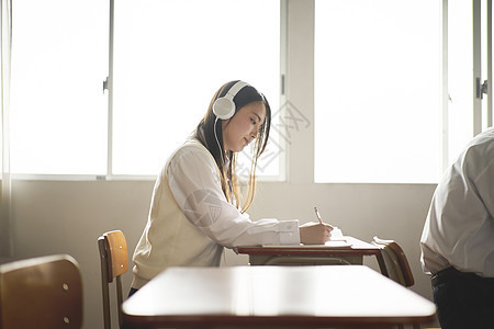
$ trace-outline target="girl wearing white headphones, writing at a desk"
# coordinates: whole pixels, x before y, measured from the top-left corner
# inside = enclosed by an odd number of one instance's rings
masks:
[[[147,225],[134,251],[131,295],[169,266],[218,266],[223,248],[324,243],[332,226],[266,218],[252,222],[256,164],[266,148],[271,110],[243,81],[225,83],[192,136],[164,166]],[[235,174],[236,155],[254,143],[246,197]]]

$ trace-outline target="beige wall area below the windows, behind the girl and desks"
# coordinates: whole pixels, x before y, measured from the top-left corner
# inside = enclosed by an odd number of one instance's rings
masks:
[[[153,182],[14,181],[15,257],[69,253],[79,262],[85,294],[83,328],[102,328],[100,261],[97,239],[122,229],[130,253],[144,228]],[[395,239],[405,250],[416,279],[414,291],[430,298],[430,282],[419,269],[418,240],[434,185],[259,184],[254,219],[278,217],[315,220],[317,205],[325,220],[345,234],[370,241],[374,235]],[[247,264],[246,256],[226,252],[226,265]],[[377,269],[373,259],[366,264]],[[124,276],[128,290],[132,274]],[[113,291],[112,291],[113,293]],[[114,294],[111,295],[114,299]],[[116,328],[113,321],[113,328]]]

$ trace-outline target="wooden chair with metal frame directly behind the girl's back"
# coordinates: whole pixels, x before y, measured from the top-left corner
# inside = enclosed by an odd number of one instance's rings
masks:
[[[98,238],[101,260],[101,287],[103,292],[104,328],[111,328],[109,286],[116,277],[116,304],[119,325],[122,327],[122,277],[128,271],[128,253],[125,236],[121,230],[104,232]]]

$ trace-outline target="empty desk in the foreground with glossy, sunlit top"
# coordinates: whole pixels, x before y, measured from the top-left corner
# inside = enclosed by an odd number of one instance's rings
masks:
[[[171,268],[123,303],[128,328],[394,328],[435,313],[363,265]]]

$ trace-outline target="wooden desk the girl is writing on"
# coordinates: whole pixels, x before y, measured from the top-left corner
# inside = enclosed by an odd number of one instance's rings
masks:
[[[364,256],[379,256],[380,248],[352,237],[343,237],[348,247],[332,246],[270,246],[237,247],[236,253],[249,256],[251,265],[327,265],[359,264]],[[338,242],[338,241],[335,241]],[[337,245],[337,243],[336,243]]]

